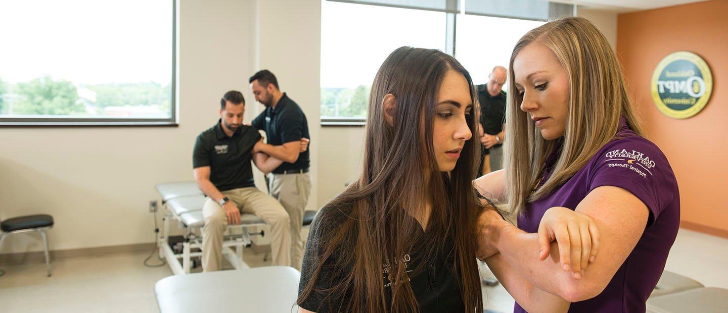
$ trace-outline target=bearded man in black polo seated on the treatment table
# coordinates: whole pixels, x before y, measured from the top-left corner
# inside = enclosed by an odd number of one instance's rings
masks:
[[[220,120],[199,134],[192,156],[194,178],[208,197],[202,209],[202,269],[220,269],[223,234],[228,224],[240,224],[241,212],[270,225],[273,265],[288,266],[290,218],[277,200],[256,189],[250,166],[252,159],[263,171],[271,171],[282,161],[258,153],[262,137],[257,129],[242,125],[245,99],[240,92],[227,92],[220,104]],[[306,146],[304,142],[300,148]]]

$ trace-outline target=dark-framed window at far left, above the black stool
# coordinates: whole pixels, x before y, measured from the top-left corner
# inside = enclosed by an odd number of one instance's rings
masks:
[[[0,1],[0,124],[175,123],[174,1]]]

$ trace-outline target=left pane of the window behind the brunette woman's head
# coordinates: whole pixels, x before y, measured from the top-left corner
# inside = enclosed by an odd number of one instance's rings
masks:
[[[323,1],[321,118],[361,123],[379,65],[400,46],[445,50],[446,14]]]

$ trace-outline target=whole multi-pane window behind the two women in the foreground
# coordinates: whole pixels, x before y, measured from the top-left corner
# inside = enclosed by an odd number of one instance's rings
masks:
[[[440,49],[486,84],[495,65],[508,66],[518,38],[573,8],[543,0],[323,0],[322,124],[363,125],[374,75],[397,47]]]

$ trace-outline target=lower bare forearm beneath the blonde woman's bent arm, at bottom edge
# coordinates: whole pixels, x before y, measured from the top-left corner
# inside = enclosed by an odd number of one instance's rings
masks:
[[[527,312],[566,312],[569,310],[571,305],[569,301],[536,288],[529,280],[526,280],[526,277],[519,274],[501,253],[496,253],[486,259],[486,264],[508,293]]]

